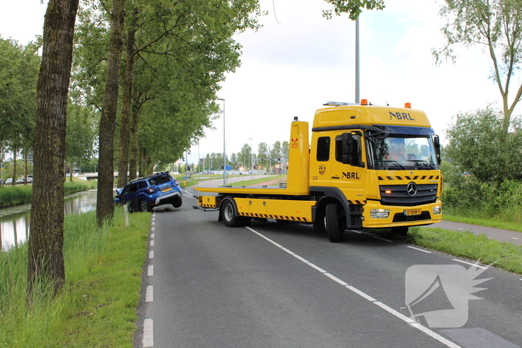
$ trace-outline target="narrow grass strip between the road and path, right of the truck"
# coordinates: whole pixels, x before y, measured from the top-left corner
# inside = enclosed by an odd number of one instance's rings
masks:
[[[479,260],[485,265],[498,260],[496,267],[522,274],[522,246],[488,239],[485,235],[476,236],[470,231],[457,232],[429,227],[410,227],[407,236],[399,236],[384,229],[371,232],[400,242]]]

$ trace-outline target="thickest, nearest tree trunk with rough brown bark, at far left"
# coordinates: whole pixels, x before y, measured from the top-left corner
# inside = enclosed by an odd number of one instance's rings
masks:
[[[73,34],[78,0],[49,0],[43,27],[42,63],[37,85],[34,175],[28,283],[46,279],[58,290],[65,283],[63,257],[65,125]]]

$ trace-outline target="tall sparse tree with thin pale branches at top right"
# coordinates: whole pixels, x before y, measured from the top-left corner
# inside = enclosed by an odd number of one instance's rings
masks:
[[[481,46],[493,62],[491,78],[502,96],[503,129],[507,136],[511,115],[522,97],[522,81],[509,100],[509,88],[516,84],[514,73],[522,63],[522,1],[520,0],[445,0],[440,16],[447,23],[442,28],[446,45],[433,50],[437,63],[441,58],[455,62],[454,45]]]

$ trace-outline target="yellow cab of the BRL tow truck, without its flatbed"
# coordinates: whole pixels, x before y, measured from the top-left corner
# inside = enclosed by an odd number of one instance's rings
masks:
[[[406,234],[408,226],[442,219],[440,143],[424,112],[365,100],[325,106],[312,127],[314,220],[326,219],[330,203],[346,229]]]

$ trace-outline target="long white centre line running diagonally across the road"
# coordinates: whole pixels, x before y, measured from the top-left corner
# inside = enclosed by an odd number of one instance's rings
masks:
[[[388,313],[390,314],[393,314],[394,316],[396,316],[397,318],[403,320],[403,321],[406,321],[407,323],[409,323],[410,326],[416,328],[416,329],[419,329],[420,331],[424,332],[425,334],[429,335],[430,337],[434,338],[435,340],[441,342],[442,344],[450,347],[450,348],[461,348],[461,346],[453,343],[452,341],[449,341],[448,339],[442,337],[440,334],[418,324],[416,321],[414,321],[413,319],[411,318],[408,318],[407,316],[405,316],[404,314],[401,314],[399,313],[398,311],[396,311],[395,309],[385,305],[384,303],[382,302],[379,302],[377,301],[375,298],[371,297],[370,295],[367,295],[365,294],[364,292],[360,291],[359,289],[351,286],[351,285],[348,285],[348,283],[346,283],[345,281],[342,281],[340,280],[339,278],[335,277],[334,275],[326,272],[324,269],[320,268],[320,267],[317,267],[315,266],[313,263],[311,262],[305,262],[306,260],[304,258],[302,258],[301,256],[293,253],[292,251],[288,250],[287,248],[277,244],[276,242],[272,241],[270,238],[268,237],[265,237],[264,235],[260,234],[259,232],[253,230],[251,227],[248,227],[248,226],[245,226],[246,229],[254,232],[255,234],[257,234],[258,236],[266,239],[267,241],[269,241],[270,243],[278,246],[279,248],[283,249],[284,251],[286,251],[287,253],[289,253],[290,255],[292,256],[295,256],[297,259],[299,259],[300,261],[306,263],[306,265],[309,265],[313,268],[315,268],[316,270],[318,270],[319,272],[323,273],[324,275],[326,275],[328,278],[330,278],[331,280],[334,280],[336,281],[337,283],[345,286],[347,289],[353,291],[354,293],[358,294],[359,296],[367,299],[368,301],[370,302],[373,302],[374,304],[376,304],[377,306],[383,308],[384,310],[386,310]],[[378,237],[375,237],[375,238],[378,238]],[[382,238],[379,238],[379,239],[382,239]],[[386,241],[386,239],[384,239]],[[387,241],[387,242],[392,242],[392,241]],[[424,250],[422,250],[424,251]],[[454,261],[460,261],[460,260],[456,260],[454,259]],[[465,261],[460,261],[460,262],[465,262]],[[465,263],[469,263],[469,262],[465,262]],[[472,263],[470,263],[470,265],[473,265]],[[150,267],[150,266],[149,266]],[[477,267],[481,267],[481,268],[484,268],[482,266],[477,266]]]

